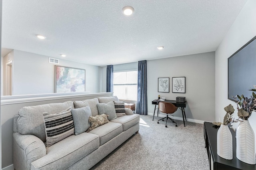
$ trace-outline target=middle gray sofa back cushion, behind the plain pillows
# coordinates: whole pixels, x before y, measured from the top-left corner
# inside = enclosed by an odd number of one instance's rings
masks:
[[[92,116],[96,116],[96,115],[99,114],[98,108],[97,108],[97,103],[99,103],[97,98],[83,100],[83,101],[75,101],[74,102],[74,107],[75,108],[81,108],[81,107],[90,106],[90,109],[92,111]]]

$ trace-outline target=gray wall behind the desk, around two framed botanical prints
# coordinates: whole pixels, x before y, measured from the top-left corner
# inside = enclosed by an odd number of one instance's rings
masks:
[[[190,121],[214,121],[215,119],[215,53],[201,53],[147,61],[148,112],[154,112],[151,101],[158,94],[168,100],[186,97],[186,118]],[[158,92],[158,78],[170,78],[170,92]],[[172,77],[186,77],[186,93],[172,93]],[[163,113],[161,113],[163,114]],[[182,117],[180,109],[173,114]],[[198,121],[196,121],[198,122]]]

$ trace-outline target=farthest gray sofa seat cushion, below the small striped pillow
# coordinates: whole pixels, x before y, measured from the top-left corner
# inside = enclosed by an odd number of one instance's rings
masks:
[[[123,131],[126,131],[136,123],[140,122],[140,115],[125,115],[111,120],[110,122],[121,123],[123,125]]]

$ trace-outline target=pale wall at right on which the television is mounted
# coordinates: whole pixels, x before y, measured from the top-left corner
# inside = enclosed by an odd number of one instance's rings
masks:
[[[223,121],[225,115],[224,107],[232,104],[236,108],[235,102],[228,100],[228,57],[240,49],[250,39],[256,35],[256,0],[248,0],[236,20],[230,27],[228,33],[222,39],[222,42],[216,49],[215,53],[215,120]],[[246,71],[245,74],[255,74]],[[256,84],[251,84],[256,85]],[[250,89],[250,87],[247,87]],[[234,112],[236,119],[237,111]],[[253,112],[249,118],[250,124],[256,132],[256,113]],[[238,126],[238,123],[232,124],[234,128]]]

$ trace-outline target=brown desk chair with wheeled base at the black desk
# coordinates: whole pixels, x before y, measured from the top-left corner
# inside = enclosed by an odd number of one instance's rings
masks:
[[[168,114],[172,114],[175,111],[177,111],[178,107],[174,106],[174,104],[168,103],[168,102],[159,102],[158,107],[162,113],[166,113],[166,117],[159,119],[157,123],[159,123],[160,120],[163,120],[166,118],[166,124],[165,127],[167,127],[167,120],[170,119],[172,123],[176,123],[173,119],[168,117]],[[175,125],[176,127],[178,126],[177,123]]]

